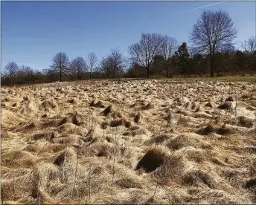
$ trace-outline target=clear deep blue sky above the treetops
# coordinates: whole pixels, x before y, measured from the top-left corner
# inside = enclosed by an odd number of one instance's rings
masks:
[[[70,59],[127,48],[141,33],[162,33],[188,42],[203,10],[226,10],[236,41],[255,36],[255,1],[1,1],[1,68],[7,62],[42,70],[54,54]],[[209,4],[214,4],[204,7]],[[202,8],[199,8],[202,7]],[[197,9],[196,9],[197,8]]]

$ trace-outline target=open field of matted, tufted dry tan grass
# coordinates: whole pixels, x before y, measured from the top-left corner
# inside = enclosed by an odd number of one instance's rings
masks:
[[[1,88],[1,200],[255,204],[254,80]]]

